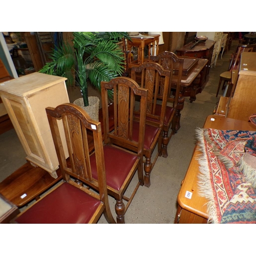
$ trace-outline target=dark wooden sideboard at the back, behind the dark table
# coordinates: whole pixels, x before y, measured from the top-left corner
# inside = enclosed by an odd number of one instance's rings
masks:
[[[197,90],[197,94],[201,93],[205,87],[205,84],[209,80],[210,63],[212,59],[212,53],[214,51],[215,41],[206,40],[205,42],[199,42],[196,46],[190,49],[195,44],[195,40],[184,45],[182,48],[176,50],[177,56],[188,56],[193,58],[207,59],[208,63],[205,66],[200,76],[200,82]],[[188,96],[188,95],[184,95]]]

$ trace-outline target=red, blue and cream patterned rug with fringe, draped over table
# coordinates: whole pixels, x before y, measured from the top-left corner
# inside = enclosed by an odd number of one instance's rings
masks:
[[[256,189],[244,176],[241,159],[251,131],[196,130],[201,157],[198,159],[199,193],[206,197],[211,223],[256,223]]]

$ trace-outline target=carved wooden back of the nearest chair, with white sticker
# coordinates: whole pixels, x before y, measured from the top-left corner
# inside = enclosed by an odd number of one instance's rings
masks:
[[[90,190],[90,195],[104,203],[104,215],[108,221],[114,223],[115,221],[110,211],[108,191],[106,187],[100,122],[92,120],[86,111],[73,103],[60,104],[56,108],[48,107],[46,108],[46,113],[63,179],[67,182],[72,182],[72,177],[87,184],[89,187],[96,188],[99,193],[93,193],[93,191]],[[66,159],[63,150],[63,142],[59,131],[61,126],[59,123],[60,120],[58,119],[61,119],[61,123],[63,123],[69,152],[68,159]],[[89,150],[91,137],[88,136],[88,134],[93,134],[98,174],[97,179],[92,176]]]

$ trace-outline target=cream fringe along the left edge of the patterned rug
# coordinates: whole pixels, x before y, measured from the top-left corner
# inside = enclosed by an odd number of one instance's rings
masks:
[[[214,193],[211,188],[208,162],[207,162],[207,157],[205,155],[205,152],[206,152],[206,148],[204,144],[205,135],[206,135],[206,129],[202,129],[199,127],[196,128],[196,139],[198,141],[198,146],[201,152],[201,154],[197,159],[199,162],[199,171],[200,171],[198,175],[199,195],[209,200],[207,203],[207,210],[209,215],[208,223],[209,222],[218,223],[218,215],[217,215],[217,209],[215,206]]]

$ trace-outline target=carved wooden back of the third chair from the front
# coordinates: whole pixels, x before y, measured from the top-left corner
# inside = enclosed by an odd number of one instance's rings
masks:
[[[163,128],[167,96],[169,90],[170,71],[159,63],[144,62],[139,67],[133,67],[132,79],[138,81],[140,87],[148,90],[146,104],[146,122]],[[159,100],[161,100],[159,102]],[[159,112],[159,103],[161,109]]]

